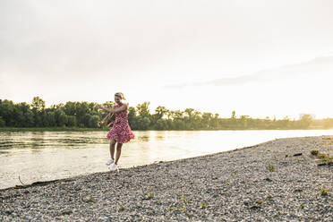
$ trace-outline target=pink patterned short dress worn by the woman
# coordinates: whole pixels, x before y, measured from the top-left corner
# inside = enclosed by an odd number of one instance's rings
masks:
[[[119,107],[115,105],[114,108]],[[114,140],[118,143],[131,141],[134,134],[127,120],[127,110],[115,114],[115,122],[112,129],[107,133],[107,140]]]

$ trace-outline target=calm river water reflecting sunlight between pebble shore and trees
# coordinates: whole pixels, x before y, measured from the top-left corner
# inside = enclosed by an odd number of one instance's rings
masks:
[[[120,167],[191,158],[277,138],[332,135],[328,131],[134,132]],[[107,132],[0,132],[0,188],[107,171]]]

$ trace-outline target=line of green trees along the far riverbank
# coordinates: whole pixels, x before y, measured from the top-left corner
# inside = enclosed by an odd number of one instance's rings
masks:
[[[103,107],[113,107],[107,101]],[[107,113],[98,110],[94,102],[66,102],[65,104],[45,106],[42,98],[35,97],[30,104],[13,103],[0,99],[0,127],[78,127],[97,128],[98,122]],[[115,119],[115,117],[113,117]],[[329,129],[333,128],[333,118],[315,119],[313,115],[300,115],[298,120],[288,116],[283,119],[252,118],[249,115],[229,118],[218,114],[199,112],[193,108],[168,110],[157,107],[153,114],[149,102],[129,107],[128,120],[132,130],[289,130],[289,129]],[[112,120],[111,120],[112,121]],[[103,125],[106,127],[106,124]]]

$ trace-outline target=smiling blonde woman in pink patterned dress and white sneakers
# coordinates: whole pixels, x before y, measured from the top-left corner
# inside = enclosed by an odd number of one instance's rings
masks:
[[[110,166],[110,170],[117,169],[118,160],[122,153],[123,143],[131,141],[134,138],[131,127],[128,124],[127,115],[128,115],[128,103],[123,101],[124,94],[122,92],[115,93],[115,106],[110,108],[97,106],[109,114],[100,122],[98,122],[98,127],[100,124],[103,124],[108,118],[111,118],[115,114],[115,122],[112,129],[107,133],[107,139],[110,141],[110,156],[111,158],[107,161],[107,166],[114,163]],[[115,154],[115,143],[116,143],[116,156]]]

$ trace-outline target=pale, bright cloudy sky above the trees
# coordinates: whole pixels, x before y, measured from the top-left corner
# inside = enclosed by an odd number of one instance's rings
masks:
[[[333,1],[0,0],[0,99],[333,117]]]

